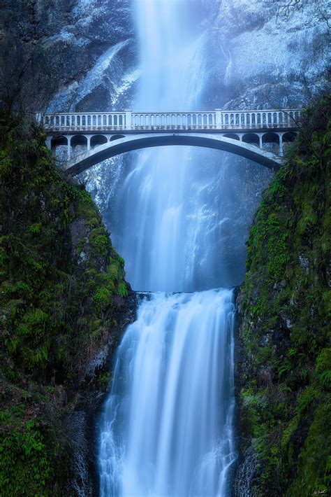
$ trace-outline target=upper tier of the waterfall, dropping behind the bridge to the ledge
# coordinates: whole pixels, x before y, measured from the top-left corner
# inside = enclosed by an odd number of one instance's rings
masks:
[[[135,107],[192,109],[201,104],[206,33],[197,28],[192,6],[188,1],[135,2],[141,53]],[[115,209],[124,219],[115,243],[135,290],[183,291],[221,284],[212,281],[216,254],[210,253],[221,220],[218,214],[208,219],[213,200],[200,179],[201,162],[212,154],[171,147],[133,155],[117,195]]]

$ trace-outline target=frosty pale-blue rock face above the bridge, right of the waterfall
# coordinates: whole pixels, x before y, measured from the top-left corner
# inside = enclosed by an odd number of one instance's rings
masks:
[[[302,106],[325,85],[328,25],[323,16],[328,1],[302,0],[287,16],[278,11],[286,3],[222,0],[211,5],[211,84],[206,93],[215,105]]]

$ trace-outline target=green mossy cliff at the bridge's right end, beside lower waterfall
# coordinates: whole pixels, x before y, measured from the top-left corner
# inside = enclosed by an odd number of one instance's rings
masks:
[[[304,115],[247,243],[237,496],[330,492],[330,133],[328,98]]]

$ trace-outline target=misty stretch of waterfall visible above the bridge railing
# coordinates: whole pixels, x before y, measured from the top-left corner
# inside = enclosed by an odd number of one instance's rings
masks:
[[[203,85],[203,46],[190,22],[191,2],[135,0],[140,87],[135,109],[191,110]],[[199,34],[199,32],[198,32]]]

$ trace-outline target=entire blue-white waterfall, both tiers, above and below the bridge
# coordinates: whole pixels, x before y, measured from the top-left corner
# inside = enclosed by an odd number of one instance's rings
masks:
[[[197,38],[192,5],[135,1],[142,54],[135,109],[198,105],[204,34]],[[100,422],[101,497],[229,492],[233,292],[205,290],[214,261],[208,260],[213,233],[205,229],[208,192],[202,188],[192,199],[189,190],[205,156],[187,147],[135,153],[119,192],[124,231],[115,244],[133,288],[194,293],[146,296],[126,330]]]

